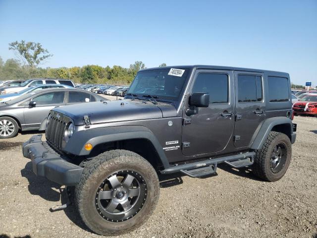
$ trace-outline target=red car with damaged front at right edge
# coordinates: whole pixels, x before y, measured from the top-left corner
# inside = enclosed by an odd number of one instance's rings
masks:
[[[306,114],[317,117],[317,93],[305,95],[293,104],[293,115]]]

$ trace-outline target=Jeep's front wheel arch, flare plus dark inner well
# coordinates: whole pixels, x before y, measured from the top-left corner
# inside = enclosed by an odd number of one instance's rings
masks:
[[[86,151],[84,145],[93,149]],[[64,151],[73,155],[92,157],[109,149],[125,149],[140,154],[153,166],[169,167],[168,160],[157,137],[141,125],[111,126],[77,131],[68,140]]]

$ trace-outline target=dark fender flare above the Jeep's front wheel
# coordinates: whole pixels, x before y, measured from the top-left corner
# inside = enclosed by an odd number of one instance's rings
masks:
[[[149,140],[159,155],[164,168],[169,167],[168,160],[153,132],[141,125],[108,126],[80,130],[73,134],[68,140],[63,151],[73,155],[89,155],[90,151],[85,150],[84,145],[90,143],[93,147],[106,143],[127,139],[147,139]]]

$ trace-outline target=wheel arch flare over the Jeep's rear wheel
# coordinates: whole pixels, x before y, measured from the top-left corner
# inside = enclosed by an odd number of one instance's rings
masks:
[[[256,135],[251,149],[259,150],[264,145],[264,142],[271,131],[281,132],[286,134],[292,140],[293,124],[292,120],[286,117],[269,118],[264,121],[258,134]]]

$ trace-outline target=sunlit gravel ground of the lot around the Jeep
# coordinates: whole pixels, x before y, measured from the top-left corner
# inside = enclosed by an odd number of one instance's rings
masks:
[[[154,215],[121,237],[317,238],[317,118],[294,121],[297,141],[281,180],[264,182],[224,165],[205,179],[160,177]],[[0,237],[100,237],[85,227],[73,205],[49,211],[60,204],[59,186],[37,178],[22,156],[21,143],[31,135],[0,141]]]

